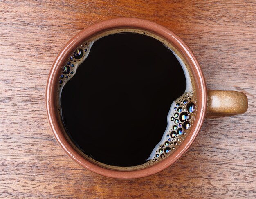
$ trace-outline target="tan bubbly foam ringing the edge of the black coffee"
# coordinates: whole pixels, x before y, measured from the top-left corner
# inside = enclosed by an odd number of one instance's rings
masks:
[[[182,96],[177,98],[173,103],[171,104],[170,110],[168,112],[167,116],[167,127],[166,130],[162,136],[161,141],[155,146],[154,150],[148,157],[148,161],[142,165],[137,166],[131,166],[131,167],[119,167],[119,166],[111,166],[106,165],[104,163],[98,162],[91,158],[90,156],[85,155],[79,148],[74,145],[74,143],[71,141],[70,137],[67,135],[67,132],[65,131],[65,127],[62,123],[61,117],[61,105],[60,105],[60,96],[61,91],[64,87],[64,85],[67,83],[68,80],[70,80],[76,73],[76,69],[83,63],[83,61],[87,58],[88,54],[90,53],[90,49],[95,41],[98,39],[115,33],[121,33],[121,32],[134,32],[138,34],[145,34],[147,36],[153,37],[160,42],[162,42],[166,47],[168,47],[173,54],[176,56],[178,61],[180,62],[182,69],[184,71],[185,77],[186,77],[186,90]],[[65,132],[65,137],[69,141],[69,143],[72,145],[73,148],[76,149],[83,157],[88,159],[89,161],[92,161],[98,165],[101,165],[106,168],[114,169],[114,170],[138,170],[141,168],[148,167],[150,165],[153,165],[162,159],[165,159],[168,157],[174,150],[176,150],[182,141],[186,138],[186,135],[189,134],[190,128],[186,129],[185,125],[189,123],[189,127],[193,125],[193,121],[195,120],[196,115],[196,92],[195,92],[195,82],[193,79],[193,75],[191,72],[191,69],[188,67],[188,64],[182,58],[180,53],[164,38],[161,38],[155,34],[152,34],[148,31],[140,30],[140,29],[114,29],[109,31],[101,32],[95,36],[92,36],[85,42],[83,42],[81,45],[79,45],[75,50],[82,49],[83,56],[81,58],[76,59],[74,56],[74,53],[70,54],[69,58],[66,60],[66,64],[63,65],[63,70],[61,70],[61,74],[59,77],[59,83],[57,85],[57,109],[59,114],[59,123],[61,124],[63,132]],[[65,67],[65,68],[64,68]],[[63,72],[68,74],[64,74]],[[192,112],[188,111],[187,105],[189,103],[193,103],[194,110]],[[180,112],[179,112],[180,111]],[[180,117],[186,118],[185,121],[181,121]],[[182,130],[182,131],[181,131]]]

